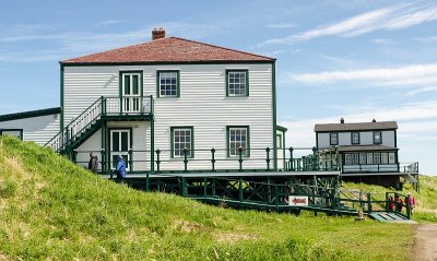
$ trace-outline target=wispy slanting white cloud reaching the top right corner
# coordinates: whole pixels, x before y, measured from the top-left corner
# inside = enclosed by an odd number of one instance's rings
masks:
[[[434,20],[437,20],[437,5],[417,5],[416,3],[394,4],[362,13],[338,23],[321,25],[299,34],[283,38],[268,39],[261,43],[261,46],[271,44],[294,44],[332,35],[353,37],[375,31],[406,28]]]

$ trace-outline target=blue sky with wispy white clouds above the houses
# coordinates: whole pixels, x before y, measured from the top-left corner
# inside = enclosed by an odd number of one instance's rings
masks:
[[[315,123],[398,121],[400,162],[437,175],[437,2],[1,1],[0,115],[59,106],[59,60],[147,41],[153,27],[275,57],[287,146]]]

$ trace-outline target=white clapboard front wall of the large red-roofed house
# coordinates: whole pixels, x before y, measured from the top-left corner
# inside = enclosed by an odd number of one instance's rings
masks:
[[[249,70],[249,96],[226,97],[226,69]],[[273,147],[272,64],[174,64],[66,67],[63,74],[64,124],[80,115],[101,96],[119,95],[119,71],[143,71],[143,95],[155,97],[155,150],[161,154],[161,169],[181,169],[180,158],[170,158],[170,127],[193,127],[194,159],[210,159],[214,147],[216,169],[238,168],[238,162],[226,159],[226,126],[249,126],[250,158],[244,168],[265,168],[267,146]],[[180,71],[180,97],[156,97],[156,71]],[[147,122],[149,123],[149,122]],[[128,122],[119,122],[129,127]],[[137,123],[135,123],[137,124]],[[147,131],[150,133],[150,131]],[[150,139],[134,131],[135,143]],[[145,144],[144,143],[144,144]],[[85,144],[85,143],[84,143]],[[99,150],[101,144],[97,149]],[[141,145],[142,147],[142,145]],[[273,155],[273,154],[271,154]],[[144,156],[145,157],[145,156]],[[210,168],[211,162],[189,163],[189,169]],[[273,167],[273,163],[272,163]]]

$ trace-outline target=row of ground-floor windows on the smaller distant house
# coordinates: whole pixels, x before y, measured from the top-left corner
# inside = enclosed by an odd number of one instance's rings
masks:
[[[345,153],[344,165],[397,164],[394,152]]]

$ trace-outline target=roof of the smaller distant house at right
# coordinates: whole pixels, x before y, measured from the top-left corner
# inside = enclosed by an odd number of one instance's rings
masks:
[[[356,123],[327,123],[316,124],[316,132],[326,131],[364,131],[364,130],[392,130],[398,129],[395,121],[356,122]]]

